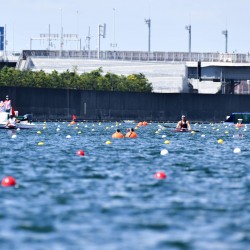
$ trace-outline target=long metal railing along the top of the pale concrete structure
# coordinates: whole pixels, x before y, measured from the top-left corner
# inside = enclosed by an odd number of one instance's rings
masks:
[[[27,57],[83,58],[98,59],[96,50],[24,50],[22,59]],[[235,53],[188,53],[188,52],[145,52],[145,51],[100,51],[100,60],[150,61],[150,62],[232,62],[249,63],[250,54]]]

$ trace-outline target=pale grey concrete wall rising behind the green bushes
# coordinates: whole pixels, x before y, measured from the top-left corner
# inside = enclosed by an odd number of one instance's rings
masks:
[[[152,83],[153,91],[158,93],[188,93],[186,65],[183,62],[140,62],[119,60],[90,60],[79,58],[39,58],[28,57],[25,70],[44,70],[51,73],[76,71],[78,74],[102,67],[103,72],[118,75],[143,73]]]

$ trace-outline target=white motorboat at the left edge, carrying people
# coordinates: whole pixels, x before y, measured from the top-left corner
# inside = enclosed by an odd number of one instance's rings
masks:
[[[20,122],[16,123],[16,126],[13,127],[6,126],[8,119],[9,113],[0,112],[0,129],[32,129],[35,127],[35,124],[32,122],[32,116],[30,114],[16,116],[16,119]]]

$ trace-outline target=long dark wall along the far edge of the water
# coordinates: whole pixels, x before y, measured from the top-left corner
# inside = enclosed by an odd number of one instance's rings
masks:
[[[0,87],[19,114],[34,120],[176,121],[185,114],[191,121],[218,122],[232,112],[250,112],[248,95],[159,94],[97,92],[63,89]]]

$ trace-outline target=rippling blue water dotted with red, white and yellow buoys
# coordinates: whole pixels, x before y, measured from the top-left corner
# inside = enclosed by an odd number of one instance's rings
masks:
[[[115,123],[38,124],[15,139],[1,130],[0,177],[18,186],[0,187],[0,249],[249,249],[250,127],[161,125],[134,140],[111,139]]]

